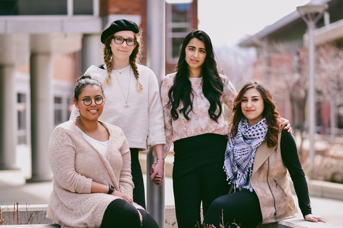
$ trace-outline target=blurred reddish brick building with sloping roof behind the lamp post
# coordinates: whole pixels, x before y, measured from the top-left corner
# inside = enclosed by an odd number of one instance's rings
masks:
[[[343,0],[321,0],[328,10],[315,29],[316,46],[316,131],[328,133],[331,120],[335,128],[343,128],[342,69],[336,70],[336,78],[329,70],[343,65],[343,58],[332,58],[324,63],[334,51],[342,51]],[[306,23],[294,9],[286,17],[266,26],[265,29],[243,40],[241,47],[255,47],[257,60],[254,64],[256,79],[265,81],[277,95],[277,106],[282,116],[295,128],[306,128],[306,96],[308,77],[308,37]],[[335,61],[336,67],[330,62]],[[341,80],[342,79],[342,80]],[[332,87],[335,84],[335,88]],[[336,90],[336,97],[331,92]],[[332,102],[332,101],[335,102]],[[301,126],[303,125],[303,126]],[[303,130],[303,128],[302,128]]]

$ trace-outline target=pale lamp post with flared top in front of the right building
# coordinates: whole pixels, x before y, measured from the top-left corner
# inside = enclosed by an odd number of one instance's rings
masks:
[[[316,128],[316,109],[315,109],[315,43],[314,30],[318,20],[328,9],[328,5],[321,1],[312,0],[308,4],[296,7],[302,19],[307,24],[308,49],[309,49],[309,88],[308,88],[308,126],[310,133],[310,164],[315,163],[315,128]]]

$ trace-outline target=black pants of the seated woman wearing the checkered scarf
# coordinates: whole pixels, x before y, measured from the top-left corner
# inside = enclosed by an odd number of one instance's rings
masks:
[[[225,228],[235,228],[232,226],[233,222],[241,225],[241,228],[256,228],[262,222],[260,202],[256,193],[243,189],[218,197],[208,209],[204,224],[219,227],[222,220]]]

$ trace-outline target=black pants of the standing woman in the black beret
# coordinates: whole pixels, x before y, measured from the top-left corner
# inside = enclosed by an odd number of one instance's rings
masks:
[[[133,202],[147,209],[142,168],[141,168],[141,164],[139,163],[139,158],[138,158],[138,154],[139,154],[138,148],[130,148],[130,152],[131,152],[131,175],[132,175],[133,184],[135,185],[135,188],[133,189]]]

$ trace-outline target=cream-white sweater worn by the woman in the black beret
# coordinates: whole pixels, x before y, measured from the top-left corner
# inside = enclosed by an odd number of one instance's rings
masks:
[[[120,127],[130,148],[147,149],[147,146],[166,143],[163,110],[155,73],[146,66],[137,64],[137,67],[143,90],[138,91],[137,80],[131,67],[116,71],[119,82],[112,71],[112,86],[103,86],[105,105],[99,120]],[[85,74],[103,83],[107,70],[92,65]],[[125,106],[125,100],[129,104],[128,107]],[[70,118],[73,119],[77,115],[79,112],[74,106]]]

